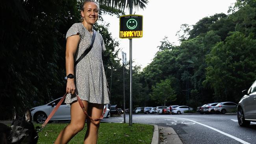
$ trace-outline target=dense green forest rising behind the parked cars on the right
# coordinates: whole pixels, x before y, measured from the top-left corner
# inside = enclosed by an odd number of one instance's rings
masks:
[[[241,91],[256,79],[255,26],[254,0],[237,0],[229,15],[205,17],[193,26],[183,24],[177,33],[180,45],[173,46],[165,37],[153,61],[140,73],[142,91],[155,95],[159,83],[171,79],[176,101],[166,96],[167,105],[195,108],[211,102],[239,102]],[[147,101],[148,106],[162,103]]]

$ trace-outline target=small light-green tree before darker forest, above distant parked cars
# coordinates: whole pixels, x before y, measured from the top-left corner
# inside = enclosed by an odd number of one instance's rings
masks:
[[[161,80],[160,83],[156,83],[156,86],[152,87],[150,97],[161,105],[164,104],[165,100],[175,101],[176,94],[171,87],[170,79]]]

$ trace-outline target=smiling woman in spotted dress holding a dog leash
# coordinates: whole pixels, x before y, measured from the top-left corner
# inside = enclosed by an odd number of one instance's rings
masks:
[[[109,103],[107,81],[102,63],[102,51],[106,50],[102,35],[96,32],[90,52],[74,65],[91,45],[93,24],[98,20],[99,6],[94,0],[85,0],[81,7],[81,23],[75,23],[68,30],[66,39],[66,74],[69,93],[65,103],[71,106],[71,122],[58,135],[55,144],[66,144],[82,131],[87,116],[80,107],[75,92],[81,98],[85,110],[93,118],[100,118],[104,104]],[[96,144],[100,121],[94,123],[88,118],[84,144]]]

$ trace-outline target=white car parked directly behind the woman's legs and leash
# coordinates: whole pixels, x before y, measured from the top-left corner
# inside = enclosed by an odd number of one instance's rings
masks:
[[[57,105],[57,103],[61,100],[61,98],[58,98],[50,103],[47,103],[46,105],[41,105],[38,107],[33,107],[30,109],[32,114],[32,120],[42,124],[45,122],[46,118],[50,115],[54,107]],[[105,106],[104,106],[105,108]],[[104,118],[108,118],[110,116],[110,110],[108,109],[106,113],[104,114]],[[70,116],[70,105],[66,105],[64,101],[59,106],[59,109],[56,111],[56,113],[52,116],[50,120],[71,120]]]

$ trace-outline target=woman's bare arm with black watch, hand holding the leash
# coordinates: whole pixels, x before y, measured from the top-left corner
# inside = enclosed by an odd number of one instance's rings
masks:
[[[78,47],[78,44],[80,42],[80,36],[79,35],[72,35],[67,38],[67,44],[66,44],[66,76],[68,74],[74,75],[74,55],[76,54],[76,49]],[[67,87],[66,92],[68,93],[75,93],[75,78],[67,79]]]

